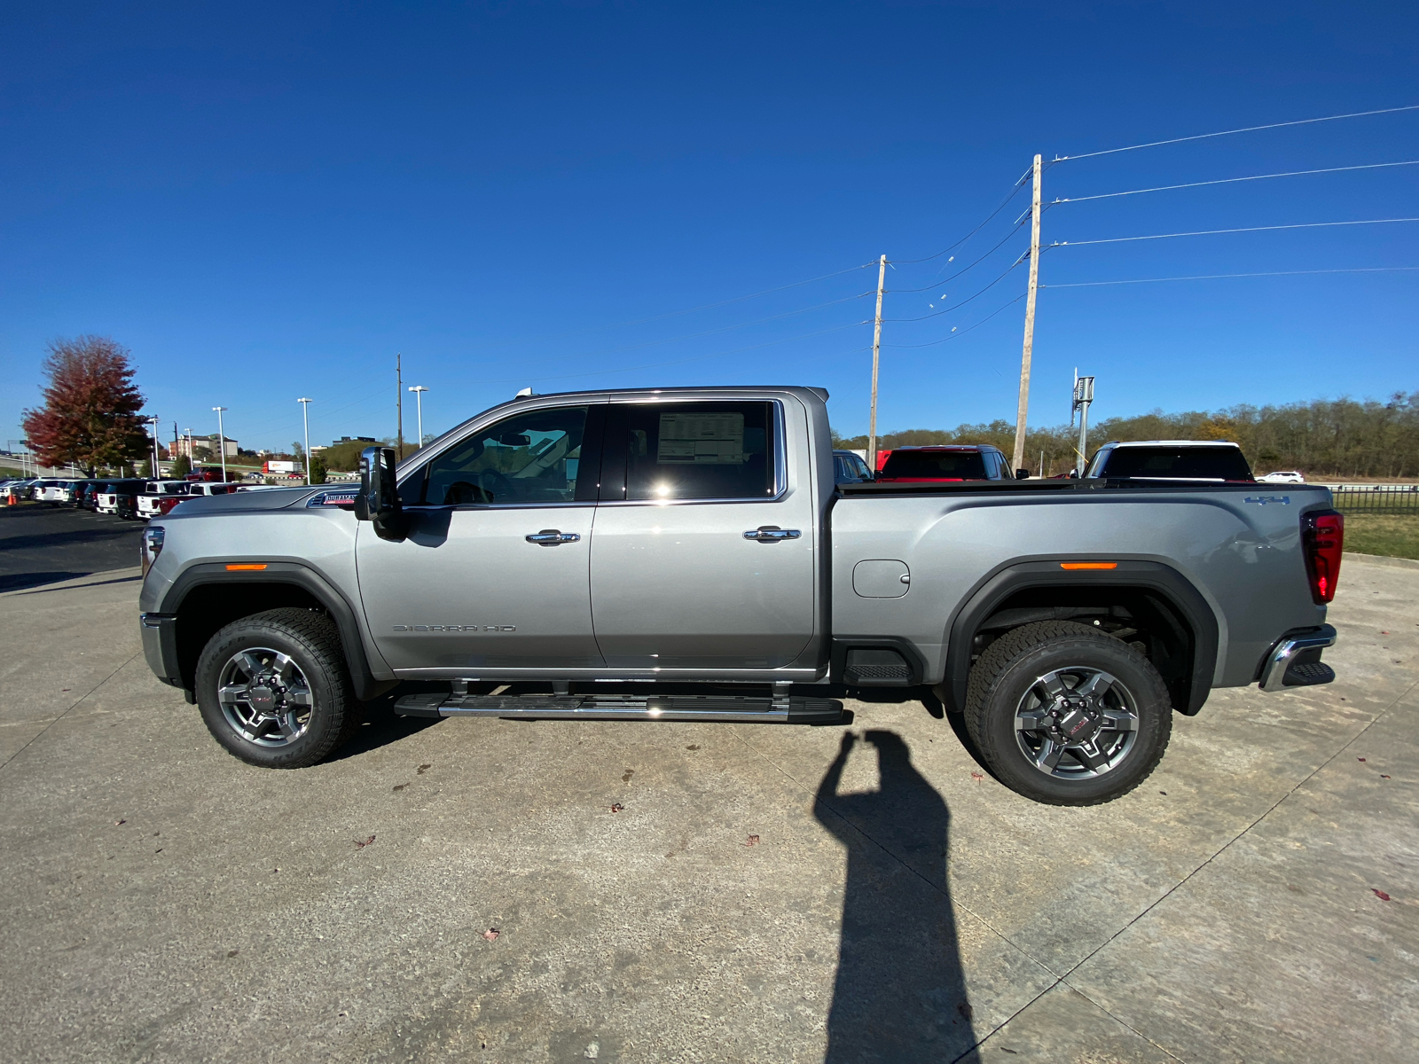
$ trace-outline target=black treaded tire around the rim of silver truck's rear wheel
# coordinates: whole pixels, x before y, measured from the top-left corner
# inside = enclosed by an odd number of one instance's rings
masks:
[[[1114,677],[1114,698],[1127,697],[1137,719],[1127,749],[1098,775],[1083,775],[1083,759],[1070,753],[1063,765],[1080,775],[1051,775],[1022,749],[1016,714],[1032,689],[1040,691],[1039,678],[1056,671],[1069,675],[1069,670]],[[986,767],[1005,786],[1053,806],[1094,806],[1127,794],[1158,766],[1172,732],[1172,702],[1158,670],[1128,644],[1088,624],[1042,621],[1006,633],[976,660],[966,685],[965,725]]]

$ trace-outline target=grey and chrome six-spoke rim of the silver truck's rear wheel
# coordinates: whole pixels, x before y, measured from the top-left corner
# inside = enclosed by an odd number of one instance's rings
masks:
[[[1100,668],[1057,668],[1037,677],[1020,698],[1015,741],[1046,776],[1094,779],[1132,753],[1138,702],[1118,677]]]

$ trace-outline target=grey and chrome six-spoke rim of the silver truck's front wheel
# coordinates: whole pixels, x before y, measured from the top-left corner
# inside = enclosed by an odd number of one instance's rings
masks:
[[[217,678],[221,715],[243,739],[288,746],[311,726],[315,698],[289,654],[268,647],[238,650]]]

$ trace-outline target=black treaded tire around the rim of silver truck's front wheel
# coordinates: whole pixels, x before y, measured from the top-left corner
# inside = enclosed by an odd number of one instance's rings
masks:
[[[238,718],[223,708],[219,694],[228,663],[247,650],[265,650],[291,658],[309,697],[309,718],[298,735],[281,745],[277,736],[253,739]],[[360,724],[349,667],[339,631],[324,613],[282,607],[243,617],[221,628],[197,660],[197,708],[207,731],[234,758],[268,769],[301,769],[315,765],[343,745]]]

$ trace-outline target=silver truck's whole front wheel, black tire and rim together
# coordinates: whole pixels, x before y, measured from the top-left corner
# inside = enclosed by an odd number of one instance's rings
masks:
[[[268,769],[315,765],[359,724],[335,623],[291,607],[243,617],[207,641],[197,706],[228,753]]]

